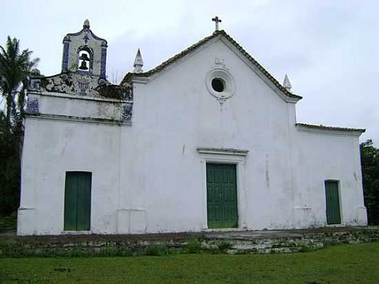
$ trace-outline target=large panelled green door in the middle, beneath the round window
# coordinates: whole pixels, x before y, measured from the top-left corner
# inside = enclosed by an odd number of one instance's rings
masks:
[[[207,163],[209,229],[238,227],[236,165]]]

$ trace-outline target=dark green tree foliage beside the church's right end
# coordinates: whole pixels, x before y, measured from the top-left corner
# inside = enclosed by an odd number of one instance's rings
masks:
[[[363,194],[370,225],[379,224],[379,149],[371,140],[360,144]]]

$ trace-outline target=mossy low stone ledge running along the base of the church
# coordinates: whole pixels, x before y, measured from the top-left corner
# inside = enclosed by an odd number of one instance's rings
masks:
[[[376,242],[379,241],[379,228],[112,236],[0,236],[0,257],[76,256],[73,253],[77,256],[107,256],[114,255],[114,252],[141,255],[150,246],[163,246],[173,253],[183,253],[186,252],[189,239],[198,239],[205,253],[276,254],[308,252],[342,243]]]

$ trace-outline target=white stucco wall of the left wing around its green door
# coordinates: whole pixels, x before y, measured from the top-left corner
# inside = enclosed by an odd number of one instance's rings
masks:
[[[61,234],[66,171],[92,172],[92,232],[116,232],[119,126],[26,119],[18,234]]]

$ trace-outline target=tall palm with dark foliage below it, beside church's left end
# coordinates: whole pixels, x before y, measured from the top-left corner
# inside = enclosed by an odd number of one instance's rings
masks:
[[[6,112],[0,110],[0,214],[9,214],[19,205],[23,110],[28,79],[39,59],[32,51],[20,52],[17,39],[7,38],[0,45],[0,94],[6,101]]]

